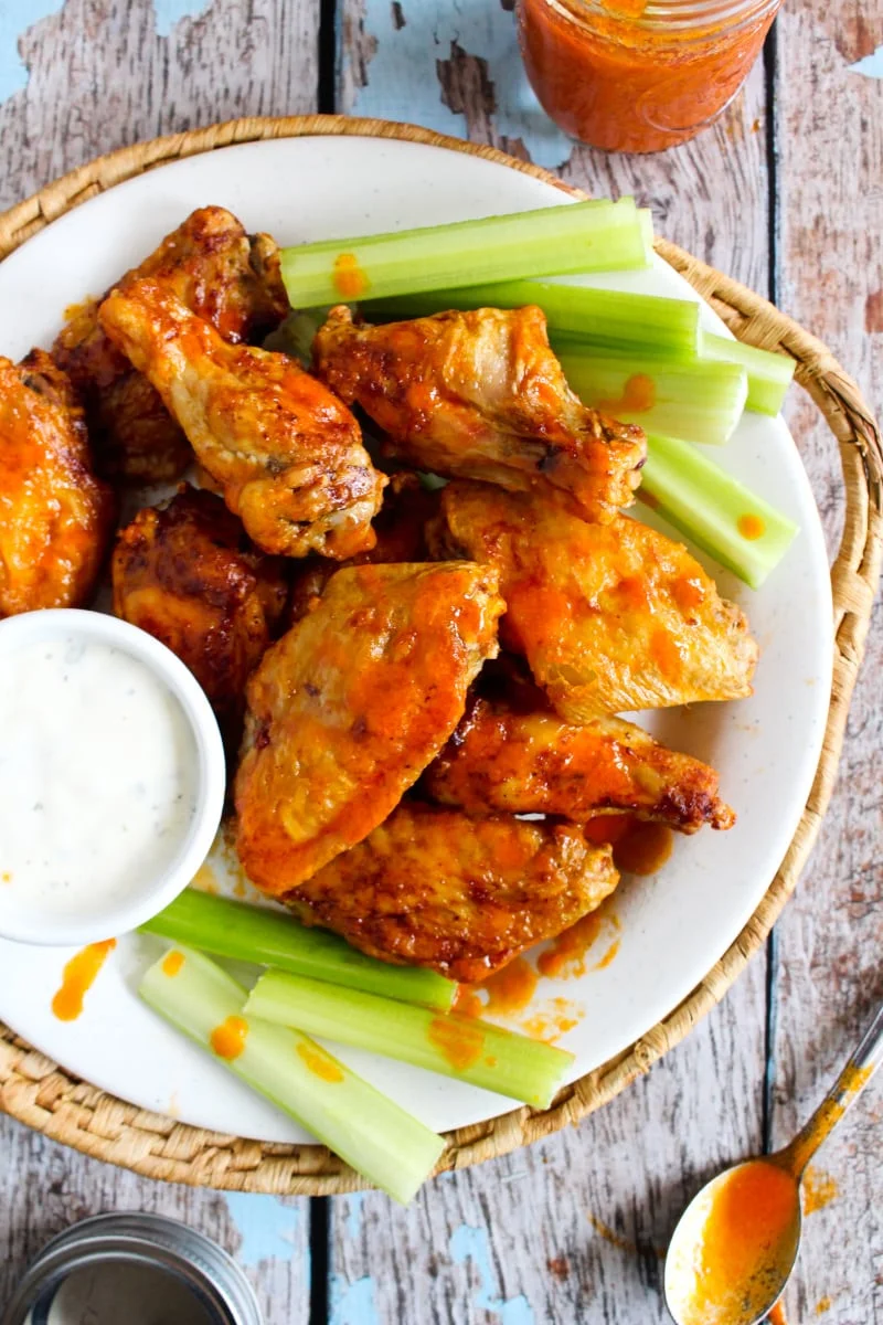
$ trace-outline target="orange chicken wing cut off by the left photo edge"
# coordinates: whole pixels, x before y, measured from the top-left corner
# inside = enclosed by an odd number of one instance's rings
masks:
[[[85,603],[114,505],[65,374],[42,350],[0,358],[0,617]]]

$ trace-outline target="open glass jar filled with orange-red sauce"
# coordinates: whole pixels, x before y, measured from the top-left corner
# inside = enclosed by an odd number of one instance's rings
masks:
[[[552,119],[606,151],[658,152],[718,119],[781,0],[518,0],[527,76]]]

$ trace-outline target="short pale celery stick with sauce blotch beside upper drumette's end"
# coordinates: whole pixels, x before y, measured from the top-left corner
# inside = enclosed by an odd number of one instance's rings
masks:
[[[673,364],[653,355],[600,355],[556,338],[552,344],[586,405],[646,432],[721,445],[745,408],[748,376],[735,363]]]

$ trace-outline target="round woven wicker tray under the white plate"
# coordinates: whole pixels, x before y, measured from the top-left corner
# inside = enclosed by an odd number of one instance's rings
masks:
[[[499,162],[581,197],[539,167],[492,147],[446,138],[410,125],[380,119],[310,115],[291,119],[237,119],[212,129],[158,138],[71,171],[0,216],[0,258],[57,216],[154,166],[214,151],[230,143],[316,134],[398,138],[470,152]],[[827,348],[765,299],[721,276],[683,249],[657,240],[658,253],[708,301],[743,341],[778,350],[797,362],[796,378],[823,415],[839,448],[846,504],[845,529],[831,568],[834,674],[822,754],[812,792],[785,859],[739,938],[669,1016],[624,1053],[560,1092],[549,1109],[519,1109],[447,1136],[440,1169],[462,1169],[530,1145],[576,1122],[624,1090],[678,1044],[718,1003],[763,946],[809,856],[830,800],[843,731],[880,568],[883,546],[883,453],[878,427],[858,387]],[[70,1076],[0,1023],[0,1108],[54,1141],[89,1155],[171,1182],[327,1195],[365,1183],[324,1146],[285,1146],[191,1128],[136,1109]]]

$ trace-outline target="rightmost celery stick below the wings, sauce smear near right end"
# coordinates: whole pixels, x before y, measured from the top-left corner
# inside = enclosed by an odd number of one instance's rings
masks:
[[[573,1055],[469,1016],[440,1016],[372,994],[267,971],[246,1012],[297,1026],[547,1109]]]

